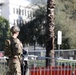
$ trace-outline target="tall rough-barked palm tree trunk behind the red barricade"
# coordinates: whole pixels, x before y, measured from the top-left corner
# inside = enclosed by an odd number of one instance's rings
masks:
[[[46,66],[54,66],[54,0],[47,0]]]

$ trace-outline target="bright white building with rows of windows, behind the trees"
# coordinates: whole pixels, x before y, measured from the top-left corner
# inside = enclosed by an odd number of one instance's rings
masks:
[[[33,17],[33,9],[28,0],[0,0],[0,16],[6,18],[10,27],[26,23]]]

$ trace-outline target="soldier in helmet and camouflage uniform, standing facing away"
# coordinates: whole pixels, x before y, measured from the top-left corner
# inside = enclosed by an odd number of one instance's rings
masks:
[[[22,55],[22,43],[17,38],[20,29],[18,26],[13,26],[11,28],[11,37],[5,41],[5,56],[9,57],[9,75],[21,75],[21,55]]]

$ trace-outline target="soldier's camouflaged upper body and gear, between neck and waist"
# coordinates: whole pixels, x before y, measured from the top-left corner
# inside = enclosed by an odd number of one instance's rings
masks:
[[[18,55],[19,48],[20,47],[20,41],[18,39],[10,38],[5,41],[5,48],[4,48],[4,55],[5,56],[14,56]],[[20,49],[21,50],[21,49]]]

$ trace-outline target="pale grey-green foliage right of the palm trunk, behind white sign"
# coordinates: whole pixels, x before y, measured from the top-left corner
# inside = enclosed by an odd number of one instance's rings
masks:
[[[76,0],[58,0],[55,10],[55,33],[61,30],[63,43],[61,48],[76,48]]]

